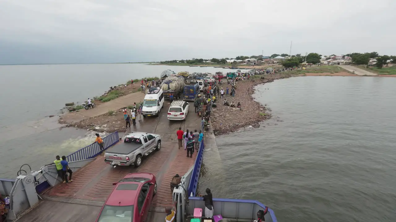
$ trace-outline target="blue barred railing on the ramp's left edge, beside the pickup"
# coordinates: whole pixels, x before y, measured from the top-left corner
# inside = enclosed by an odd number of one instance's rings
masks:
[[[103,143],[105,143],[105,150],[112,145],[116,144],[119,141],[118,132],[114,132],[112,134],[103,137]],[[97,142],[92,143],[82,149],[79,149],[76,152],[73,152],[69,156],[66,156],[66,160],[68,162],[78,161],[78,160],[86,160],[89,158],[93,158],[99,155],[102,151],[100,150],[99,144]]]

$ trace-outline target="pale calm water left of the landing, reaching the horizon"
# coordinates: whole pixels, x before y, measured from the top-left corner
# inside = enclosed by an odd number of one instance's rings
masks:
[[[145,64],[64,64],[0,66],[0,178],[13,179],[22,164],[33,170],[91,144],[94,132],[57,123],[67,102],[101,96],[110,86],[131,79],[160,77],[164,70],[228,71],[213,67]],[[49,115],[55,117],[49,118]],[[102,134],[103,136],[103,134]],[[29,167],[24,167],[29,171]]]

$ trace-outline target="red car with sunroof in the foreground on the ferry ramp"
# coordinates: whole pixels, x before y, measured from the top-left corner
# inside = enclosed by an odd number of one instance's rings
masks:
[[[154,174],[129,173],[115,185],[96,222],[143,222],[157,192]]]

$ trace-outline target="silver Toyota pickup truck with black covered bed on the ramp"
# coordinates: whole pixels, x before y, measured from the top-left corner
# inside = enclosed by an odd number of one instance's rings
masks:
[[[115,166],[139,167],[142,157],[161,149],[161,136],[142,132],[131,132],[124,136],[122,143],[105,151],[105,162]]]

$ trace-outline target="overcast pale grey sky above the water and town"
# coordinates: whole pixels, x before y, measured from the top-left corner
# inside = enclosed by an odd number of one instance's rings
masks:
[[[396,0],[0,0],[0,64],[377,51]]]

